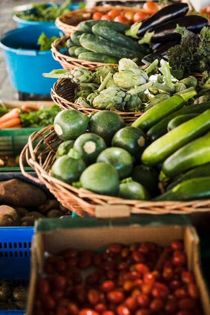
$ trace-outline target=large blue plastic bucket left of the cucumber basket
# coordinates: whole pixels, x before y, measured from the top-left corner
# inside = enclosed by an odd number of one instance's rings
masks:
[[[28,26],[4,33],[0,47],[4,51],[11,85],[18,91],[33,94],[50,94],[56,79],[42,76],[43,72],[59,69],[60,64],[52,57],[51,50],[39,51],[36,45],[41,33],[47,37],[59,37],[55,26]]]

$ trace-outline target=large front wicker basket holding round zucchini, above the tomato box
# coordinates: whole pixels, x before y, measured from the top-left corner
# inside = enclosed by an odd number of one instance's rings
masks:
[[[40,139],[40,141],[34,147],[34,141],[36,139]],[[21,171],[25,177],[30,178],[32,181],[45,184],[64,207],[74,211],[80,216],[94,215],[95,209],[99,205],[127,205],[130,212],[135,214],[189,214],[197,212],[210,212],[210,200],[194,200],[187,202],[125,200],[117,197],[98,195],[88,190],[77,189],[71,185],[65,184],[48,174],[53,162],[55,161],[55,153],[59,143],[60,141],[52,126],[48,126],[40,131],[34,132],[29,137],[28,144],[21,153]],[[36,157],[37,151],[43,144],[45,144],[46,148],[42,150],[42,153],[38,157]],[[30,176],[30,174],[24,170],[23,161],[25,155],[28,164],[38,175],[38,179]]]

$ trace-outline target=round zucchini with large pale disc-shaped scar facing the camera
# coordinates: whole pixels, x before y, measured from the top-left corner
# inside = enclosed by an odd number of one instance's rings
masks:
[[[97,134],[85,133],[77,138],[74,149],[81,153],[86,165],[90,165],[95,163],[98,155],[106,149],[106,143]]]

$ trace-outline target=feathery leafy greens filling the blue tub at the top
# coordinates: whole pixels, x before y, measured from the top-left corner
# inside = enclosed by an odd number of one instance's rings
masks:
[[[70,10],[67,8],[71,4],[71,0],[65,1],[62,6],[58,7],[54,3],[50,3],[51,7],[47,7],[45,3],[43,4],[33,4],[30,13],[28,11],[23,11],[17,13],[17,17],[28,21],[42,21],[50,22],[55,21],[60,15],[68,13]]]

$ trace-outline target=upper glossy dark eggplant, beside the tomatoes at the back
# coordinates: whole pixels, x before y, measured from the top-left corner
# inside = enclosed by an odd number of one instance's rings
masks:
[[[153,14],[150,18],[142,22],[142,25],[138,29],[137,36],[143,37],[149,29],[154,28],[157,25],[184,17],[188,10],[189,6],[185,3],[177,3],[164,7],[157,13]]]

